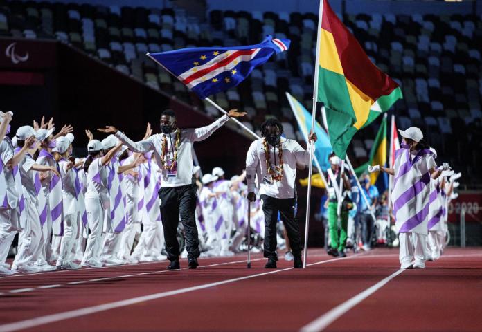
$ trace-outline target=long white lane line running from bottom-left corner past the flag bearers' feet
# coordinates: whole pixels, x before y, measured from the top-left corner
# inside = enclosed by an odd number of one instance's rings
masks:
[[[335,258],[335,259],[328,259],[328,260],[325,260],[325,261],[318,261],[316,263],[310,264],[310,266],[317,265],[317,264],[326,264],[326,263],[330,263],[332,261],[339,261],[341,259],[350,259],[352,257],[358,257],[359,255],[361,255],[361,254],[352,255],[352,256],[349,256],[349,257],[340,257],[340,258]],[[262,258],[260,258],[260,259],[262,259]],[[260,259],[256,259],[256,260],[260,260]],[[254,259],[251,259],[251,261],[254,261]],[[240,281],[246,280],[246,279],[262,277],[264,275],[272,275],[272,274],[275,274],[275,273],[281,273],[281,272],[285,272],[285,271],[288,271],[288,270],[294,270],[294,268],[282,268],[282,269],[279,269],[279,270],[269,271],[269,272],[265,272],[265,273],[257,273],[255,275],[247,275],[247,276],[244,276],[244,277],[226,279],[226,280],[222,280],[220,282],[211,282],[209,284],[202,284],[202,285],[191,286],[191,287],[187,287],[187,288],[179,288],[179,289],[174,290],[174,291],[165,291],[165,292],[161,292],[161,293],[154,293],[154,294],[150,294],[150,295],[132,297],[130,299],[123,299],[123,300],[120,300],[120,301],[110,302],[110,303],[106,303],[106,304],[100,304],[100,305],[97,305],[97,306],[88,306],[86,308],[80,308],[80,309],[75,309],[75,310],[71,310],[71,311],[65,311],[63,313],[55,313],[55,314],[52,314],[52,315],[44,315],[44,316],[40,316],[40,317],[36,317],[36,318],[30,318],[28,320],[21,320],[19,322],[12,322],[12,323],[8,323],[8,324],[0,325],[0,332],[11,332],[11,331],[18,331],[18,330],[21,330],[21,329],[28,329],[28,328],[32,328],[32,327],[35,327],[35,326],[50,324],[50,323],[53,323],[53,322],[59,322],[61,320],[68,320],[68,319],[75,318],[75,317],[91,315],[93,313],[99,313],[101,311],[107,311],[107,310],[111,310],[111,309],[114,309],[114,308],[120,308],[120,307],[123,307],[123,306],[130,306],[132,304],[137,304],[137,303],[146,302],[146,301],[152,301],[153,299],[161,299],[163,297],[169,297],[169,296],[189,293],[189,292],[193,292],[193,291],[199,291],[199,290],[206,289],[206,288],[221,286],[221,285],[224,285],[224,284],[231,284],[233,282],[240,282]]]

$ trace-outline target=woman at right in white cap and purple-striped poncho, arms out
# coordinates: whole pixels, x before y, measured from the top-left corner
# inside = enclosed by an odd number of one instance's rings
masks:
[[[382,171],[395,176],[391,201],[395,227],[399,232],[401,268],[425,268],[430,181],[450,167],[436,168],[434,153],[422,140],[420,129],[399,130],[402,149],[395,151],[395,168],[368,166],[368,172]]]

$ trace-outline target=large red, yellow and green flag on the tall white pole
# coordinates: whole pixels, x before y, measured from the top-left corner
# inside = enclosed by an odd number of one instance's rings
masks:
[[[402,98],[402,91],[371,62],[328,1],[322,1],[317,101],[325,105],[333,151],[344,159],[353,135]]]

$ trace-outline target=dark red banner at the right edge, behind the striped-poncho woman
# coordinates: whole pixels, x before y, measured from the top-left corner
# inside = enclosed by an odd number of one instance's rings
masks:
[[[457,199],[449,203],[449,222],[458,223],[463,209],[466,222],[482,223],[482,192],[458,192]]]

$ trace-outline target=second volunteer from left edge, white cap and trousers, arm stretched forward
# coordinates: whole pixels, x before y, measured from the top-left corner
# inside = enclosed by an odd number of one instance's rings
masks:
[[[42,261],[44,248],[40,214],[45,216],[47,212],[45,206],[42,207],[44,210],[39,210],[40,199],[45,201],[39,172],[53,172],[56,176],[60,174],[56,167],[39,165],[33,160],[32,154],[35,153],[38,145],[35,140],[37,135],[38,133],[30,126],[20,127],[16,134],[18,145],[16,150],[21,156],[18,172],[23,186],[26,219],[25,224],[21,225],[18,251],[12,269],[26,273],[56,270],[55,266]],[[43,220],[45,221],[46,218]]]

